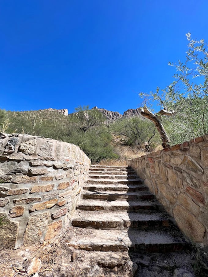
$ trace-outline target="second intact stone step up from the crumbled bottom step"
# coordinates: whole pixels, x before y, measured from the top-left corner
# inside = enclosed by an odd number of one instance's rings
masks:
[[[72,226],[92,227],[102,229],[136,228],[137,230],[149,230],[160,227],[169,227],[170,217],[164,213],[127,213],[126,211],[84,211],[76,210]]]

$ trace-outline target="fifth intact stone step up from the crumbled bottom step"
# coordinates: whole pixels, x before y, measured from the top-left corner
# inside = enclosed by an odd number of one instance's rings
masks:
[[[105,184],[87,184],[83,186],[83,189],[89,191],[123,191],[123,192],[133,192],[133,191],[148,191],[149,189],[145,185],[105,185]]]

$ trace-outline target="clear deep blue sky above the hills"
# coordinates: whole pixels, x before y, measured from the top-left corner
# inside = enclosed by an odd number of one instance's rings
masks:
[[[123,113],[168,85],[187,40],[208,41],[207,0],[0,0],[0,108]]]

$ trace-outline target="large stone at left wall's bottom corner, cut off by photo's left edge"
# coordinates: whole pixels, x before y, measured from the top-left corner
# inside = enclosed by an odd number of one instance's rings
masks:
[[[1,247],[14,249],[17,240],[19,222],[7,219],[6,214],[0,213],[0,241]]]

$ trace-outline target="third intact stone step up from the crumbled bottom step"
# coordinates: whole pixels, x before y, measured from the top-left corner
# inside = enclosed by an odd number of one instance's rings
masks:
[[[134,211],[134,212],[148,212],[148,211],[159,211],[162,210],[162,205],[156,201],[103,201],[103,200],[91,200],[85,199],[80,200],[76,206],[79,210],[110,210],[110,211]]]

